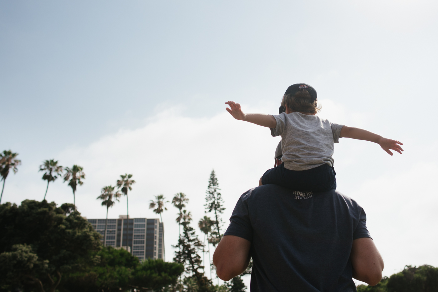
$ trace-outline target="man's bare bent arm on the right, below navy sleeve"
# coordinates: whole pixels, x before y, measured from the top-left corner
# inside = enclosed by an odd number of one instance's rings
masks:
[[[374,245],[373,239],[369,237],[354,239],[350,259],[353,265],[353,278],[371,286],[380,282],[383,259]]]

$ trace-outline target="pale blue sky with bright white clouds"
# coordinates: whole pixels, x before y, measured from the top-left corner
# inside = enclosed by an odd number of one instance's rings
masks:
[[[333,156],[337,190],[367,213],[383,274],[438,266],[437,12],[426,0],[1,1],[0,150],[22,161],[2,202],[42,200],[39,165],[54,158],[84,167],[83,216],[104,218],[95,198],[132,173],[130,216],[156,218],[155,195],[184,192],[196,226],[214,169],[228,222],[273,166],[279,137],[233,120],[224,102],[277,114],[286,88],[305,82],[321,117],[403,142],[389,156],[343,138]],[[73,195],[58,179],[47,200]],[[171,260],[177,209],[167,208]],[[122,198],[109,217],[125,210]]]

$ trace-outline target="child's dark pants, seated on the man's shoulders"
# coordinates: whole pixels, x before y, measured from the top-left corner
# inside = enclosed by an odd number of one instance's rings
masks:
[[[280,164],[268,169],[261,177],[261,183],[274,183],[300,192],[324,192],[336,190],[336,172],[327,163],[307,170],[290,170]]]

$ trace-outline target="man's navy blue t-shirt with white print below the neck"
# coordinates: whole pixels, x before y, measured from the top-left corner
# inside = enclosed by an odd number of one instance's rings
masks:
[[[356,291],[353,239],[371,237],[364,209],[336,190],[274,184],[244,193],[224,235],[251,241],[251,291]]]

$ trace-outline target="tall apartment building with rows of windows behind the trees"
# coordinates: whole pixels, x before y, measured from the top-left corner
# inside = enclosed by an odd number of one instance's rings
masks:
[[[147,258],[164,259],[164,227],[159,218],[129,218],[120,215],[119,219],[88,219],[93,228],[102,234],[105,246],[127,248],[139,260]]]

